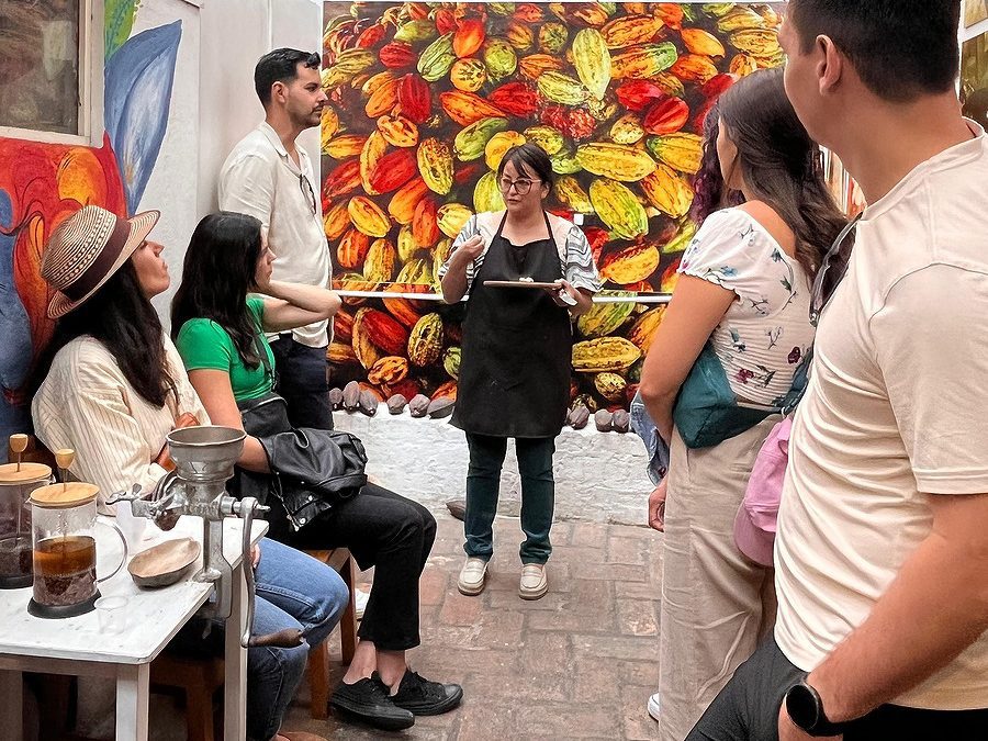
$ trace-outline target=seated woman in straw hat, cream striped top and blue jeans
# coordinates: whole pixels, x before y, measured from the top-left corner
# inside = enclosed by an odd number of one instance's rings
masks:
[[[34,426],[48,448],[76,450],[72,473],[100,487],[104,512],[103,495],[135,483],[149,491],[165,475],[165,436],[183,416],[209,423],[150,303],[170,283],[164,247],[148,239],[157,221],[157,211],[123,220],[88,205],[55,231],[42,258],[55,292],[48,316],[59,322],[38,368]],[[308,643],[248,650],[249,737],[316,741],[278,731],[310,644],[343,615],[346,585],[333,569],[267,538],[255,570],[255,631],[296,628]]]

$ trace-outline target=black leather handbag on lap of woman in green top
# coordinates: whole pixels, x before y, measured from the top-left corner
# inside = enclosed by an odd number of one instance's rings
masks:
[[[244,430],[263,447],[271,473],[238,469],[236,493],[257,496],[260,502],[273,495],[294,530],[356,496],[367,483],[367,452],[356,436],[292,427],[288,404],[274,392],[240,402],[238,407]]]

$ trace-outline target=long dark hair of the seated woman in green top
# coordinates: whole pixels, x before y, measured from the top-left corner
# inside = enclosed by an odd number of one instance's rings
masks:
[[[257,368],[257,328],[247,293],[260,254],[261,223],[254,216],[221,211],[199,222],[186,251],[182,283],[171,300],[172,338],[189,319],[212,319],[231,336],[244,364]]]

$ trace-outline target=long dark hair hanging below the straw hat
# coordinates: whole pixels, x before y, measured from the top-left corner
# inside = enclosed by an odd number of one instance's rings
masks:
[[[32,391],[45,380],[58,350],[86,335],[106,348],[127,383],[151,406],[165,406],[168,394],[176,393],[165,358],[161,322],[130,260],[86,303],[58,321],[35,367]]]

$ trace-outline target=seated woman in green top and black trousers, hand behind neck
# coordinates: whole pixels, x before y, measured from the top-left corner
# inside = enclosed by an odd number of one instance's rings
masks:
[[[237,402],[273,390],[273,357],[265,333],[321,322],[339,308],[333,291],[272,281],[273,260],[260,222],[225,212],[200,222],[186,252],[171,332],[189,380],[215,424],[243,428]],[[269,473],[257,438],[247,437],[238,465]],[[361,569],[374,566],[357,651],[330,705],[384,729],[407,728],[415,715],[457,707],[463,695],[459,685],[428,682],[405,661],[405,651],[420,642],[418,580],[436,538],[428,509],[367,484],[293,531],[277,498],[267,504],[272,505],[272,537],[297,548],[346,547]]]

